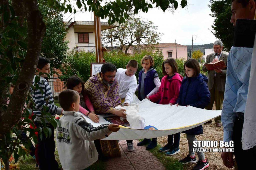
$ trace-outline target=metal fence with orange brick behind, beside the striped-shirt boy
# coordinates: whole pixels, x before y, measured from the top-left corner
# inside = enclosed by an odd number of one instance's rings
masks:
[[[54,98],[58,97],[59,93],[65,90],[65,84],[59,77],[51,77],[48,79],[51,87],[52,95]]]

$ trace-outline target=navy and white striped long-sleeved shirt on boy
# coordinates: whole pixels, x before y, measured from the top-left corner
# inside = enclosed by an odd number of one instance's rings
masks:
[[[33,86],[35,85],[35,77],[36,75],[33,79]],[[61,115],[62,109],[54,105],[54,99],[48,81],[40,76],[38,86],[42,89],[42,92],[40,91],[40,89],[33,90],[31,88],[33,101],[35,102],[37,108],[33,111],[33,113],[37,116],[41,115],[41,111],[44,110],[44,106],[46,106],[48,107],[46,111],[49,112],[51,115]]]

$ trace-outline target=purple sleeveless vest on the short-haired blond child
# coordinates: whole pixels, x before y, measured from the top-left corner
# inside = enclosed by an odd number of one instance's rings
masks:
[[[142,76],[142,73],[143,73],[143,70],[141,70],[141,71],[139,72],[138,98],[139,98],[140,100],[143,100],[143,99],[141,98],[141,93],[140,93],[140,91],[141,91],[141,76]],[[147,95],[148,93],[150,93],[150,92],[156,87],[156,85],[155,85],[155,83],[154,83],[154,78],[155,78],[155,77],[158,77],[158,74],[157,74],[157,72],[156,72],[155,69],[150,70],[150,71],[147,72],[147,74],[146,74],[146,76],[145,76],[145,78],[144,78],[145,95]]]

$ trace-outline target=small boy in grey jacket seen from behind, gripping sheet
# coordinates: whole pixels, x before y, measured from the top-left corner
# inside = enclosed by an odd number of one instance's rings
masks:
[[[63,108],[60,126],[57,126],[57,150],[63,169],[85,169],[98,160],[98,152],[93,140],[108,137],[119,130],[115,124],[93,127],[77,112],[80,96],[74,90],[64,90],[59,94]]]

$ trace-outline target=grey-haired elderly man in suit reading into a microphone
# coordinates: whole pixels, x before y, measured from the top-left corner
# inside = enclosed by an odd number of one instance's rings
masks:
[[[206,57],[206,62],[205,64],[208,63],[215,63],[219,60],[223,60],[225,64],[227,65],[227,59],[228,55],[222,53],[223,49],[223,43],[219,40],[215,41],[213,43],[213,49],[214,53],[218,55],[218,58],[215,57],[215,54],[209,54]],[[207,110],[212,110],[213,104],[215,102],[216,110],[222,110],[222,103],[224,99],[224,91],[225,91],[225,84],[226,84],[226,69],[215,69],[215,70],[207,70],[205,66],[202,68],[203,71],[207,72],[207,77],[208,77],[208,87],[211,93],[211,102],[210,104],[205,108]],[[216,117],[215,119],[215,124],[217,127],[221,126],[221,120],[220,116]],[[207,123],[211,123],[212,121],[210,120]]]

